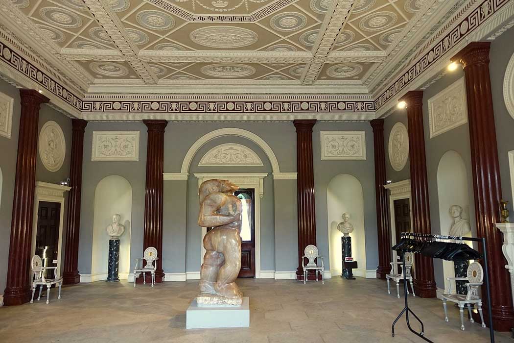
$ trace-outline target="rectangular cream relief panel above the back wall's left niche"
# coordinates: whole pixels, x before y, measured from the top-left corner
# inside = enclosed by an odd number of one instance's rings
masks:
[[[93,131],[93,161],[138,161],[139,131]]]

